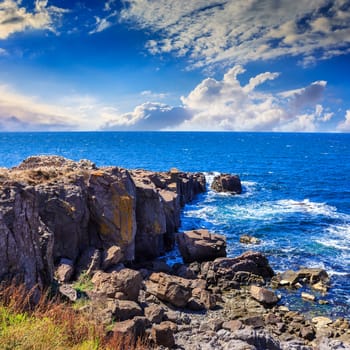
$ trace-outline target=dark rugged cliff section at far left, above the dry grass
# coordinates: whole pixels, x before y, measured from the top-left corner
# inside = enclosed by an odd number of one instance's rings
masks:
[[[16,278],[39,291],[53,277],[53,233],[39,217],[33,187],[11,180],[0,185],[0,279]]]

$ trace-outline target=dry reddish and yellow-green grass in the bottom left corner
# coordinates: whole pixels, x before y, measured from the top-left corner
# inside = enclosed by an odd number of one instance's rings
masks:
[[[14,283],[0,289],[0,344],[3,350],[144,350],[150,347],[132,337],[112,333],[91,314],[44,294],[37,304],[31,293]]]

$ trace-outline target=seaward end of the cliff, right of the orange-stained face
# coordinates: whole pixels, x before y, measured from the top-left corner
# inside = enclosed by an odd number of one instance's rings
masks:
[[[149,260],[173,247],[174,233],[180,226],[180,209],[205,191],[205,177],[177,170],[134,170],[131,175],[137,191],[136,256],[141,261]]]

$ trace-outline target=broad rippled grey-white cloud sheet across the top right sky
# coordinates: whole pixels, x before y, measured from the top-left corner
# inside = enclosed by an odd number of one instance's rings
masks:
[[[159,35],[153,54],[187,55],[194,66],[244,63],[315,52],[326,59],[350,45],[348,2],[336,0],[127,0],[121,19]]]

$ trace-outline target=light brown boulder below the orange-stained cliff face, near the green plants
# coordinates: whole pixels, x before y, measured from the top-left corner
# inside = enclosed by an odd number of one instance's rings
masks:
[[[142,286],[142,275],[139,271],[127,268],[111,273],[98,271],[93,276],[92,283],[97,293],[108,297],[122,293],[126,299],[137,301]]]

